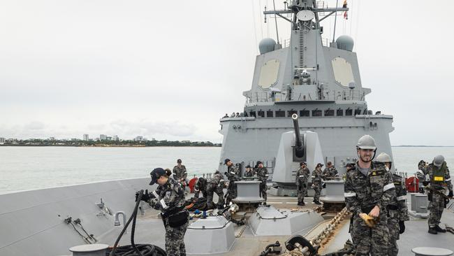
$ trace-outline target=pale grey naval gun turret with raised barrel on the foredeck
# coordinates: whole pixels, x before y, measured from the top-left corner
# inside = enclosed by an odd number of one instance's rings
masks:
[[[300,131],[298,119],[298,115],[293,114],[294,130],[281,134],[272,176],[271,194],[295,195],[295,173],[300,167],[300,162],[305,161],[307,168],[311,171],[315,169],[316,164],[324,163],[318,134],[314,131]]]

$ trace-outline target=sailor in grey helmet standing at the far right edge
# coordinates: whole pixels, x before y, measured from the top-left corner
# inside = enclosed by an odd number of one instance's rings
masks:
[[[434,157],[432,163],[427,166],[427,173],[429,173],[429,181],[424,181],[423,183],[427,190],[430,191],[428,194],[430,215],[427,221],[429,233],[444,233],[446,229],[439,227],[441,214],[443,214],[443,208],[445,207],[445,199],[448,200],[444,191],[449,191],[448,197],[451,199],[453,197],[453,184],[451,183],[451,176],[449,175],[444,156],[437,155]]]

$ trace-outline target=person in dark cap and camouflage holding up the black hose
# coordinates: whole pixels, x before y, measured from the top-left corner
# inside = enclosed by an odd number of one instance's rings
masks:
[[[184,208],[184,190],[176,180],[170,178],[170,169],[156,168],[150,175],[149,185],[159,184],[157,190],[144,194],[142,200],[161,211],[161,218],[166,228],[167,255],[186,255],[184,234],[189,223],[189,212]],[[145,198],[144,198],[145,197]]]

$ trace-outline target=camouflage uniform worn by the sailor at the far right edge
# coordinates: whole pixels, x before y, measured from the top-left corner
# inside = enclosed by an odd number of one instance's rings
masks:
[[[437,171],[443,173],[437,175]],[[432,189],[443,191],[444,187],[447,187],[449,191],[453,191],[453,184],[451,183],[451,176],[449,175],[449,169],[446,162],[443,162],[440,167],[434,166],[433,163],[429,164],[429,166],[427,166],[427,173],[429,173],[429,182]],[[436,227],[440,224],[441,214],[443,214],[444,197],[441,194],[434,192],[430,192],[430,194],[432,194],[432,200],[430,200],[429,203],[430,216],[427,223],[429,227]]]

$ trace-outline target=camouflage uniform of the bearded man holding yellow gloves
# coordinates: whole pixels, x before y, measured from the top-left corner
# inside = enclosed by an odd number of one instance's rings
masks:
[[[356,164],[356,169],[346,175],[344,197],[346,207],[353,214],[352,239],[356,242],[356,255],[388,255],[386,207],[395,197],[393,175],[383,164],[372,163],[365,176]],[[379,206],[380,213],[376,225],[370,228],[359,213],[369,214],[374,206]]]

